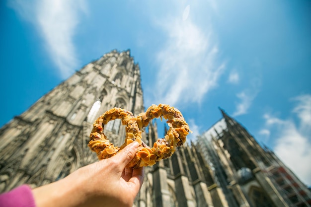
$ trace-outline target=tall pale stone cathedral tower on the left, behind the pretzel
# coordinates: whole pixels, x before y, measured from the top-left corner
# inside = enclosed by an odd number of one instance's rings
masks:
[[[61,179],[97,160],[87,146],[93,121],[113,107],[144,111],[139,66],[130,51],[105,54],[41,97],[0,129],[0,192]],[[105,127],[120,145],[125,127]]]

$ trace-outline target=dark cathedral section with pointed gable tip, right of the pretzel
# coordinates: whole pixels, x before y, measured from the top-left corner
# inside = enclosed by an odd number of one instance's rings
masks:
[[[269,149],[222,109],[196,147],[230,207],[310,207],[310,190]]]

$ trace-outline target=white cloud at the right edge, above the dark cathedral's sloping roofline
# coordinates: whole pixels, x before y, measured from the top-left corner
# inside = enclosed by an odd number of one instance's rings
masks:
[[[299,124],[295,124],[294,119],[285,120],[276,118],[270,114],[265,114],[265,130],[278,135],[274,152],[280,159],[289,166],[303,182],[311,186],[311,95],[295,97],[297,101],[294,107],[294,116],[299,118]]]

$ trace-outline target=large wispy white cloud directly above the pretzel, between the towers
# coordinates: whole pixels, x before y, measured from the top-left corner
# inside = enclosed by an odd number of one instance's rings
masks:
[[[217,86],[225,69],[225,63],[217,61],[219,48],[212,28],[203,31],[190,17],[191,10],[185,21],[180,16],[158,24],[167,40],[157,55],[157,101],[171,105],[200,103]]]

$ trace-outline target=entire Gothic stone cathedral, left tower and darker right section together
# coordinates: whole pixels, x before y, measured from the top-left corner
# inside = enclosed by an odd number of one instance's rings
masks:
[[[119,107],[145,112],[141,71],[130,51],[103,55],[41,97],[0,129],[0,192],[64,178],[97,161],[87,146],[92,124]],[[236,120],[222,118],[195,142],[145,168],[134,207],[311,207],[311,191]],[[121,120],[105,126],[111,142],[124,142]],[[143,133],[151,145],[156,122]]]

